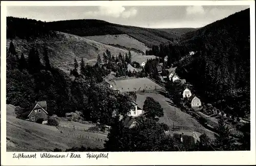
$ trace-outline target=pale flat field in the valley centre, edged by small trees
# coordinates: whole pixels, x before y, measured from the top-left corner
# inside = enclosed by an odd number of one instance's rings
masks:
[[[121,92],[143,91],[145,90],[159,90],[163,87],[159,86],[148,78],[131,78],[113,80],[113,87],[119,89]]]

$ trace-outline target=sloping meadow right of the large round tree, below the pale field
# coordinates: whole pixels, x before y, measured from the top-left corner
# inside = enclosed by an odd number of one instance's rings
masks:
[[[192,116],[181,112],[179,108],[172,106],[172,101],[159,93],[137,94],[136,101],[144,103],[147,96],[154,98],[154,100],[161,104],[164,110],[164,116],[159,119],[159,122],[167,124],[171,130],[173,130],[174,124],[175,131],[188,133],[197,132],[198,135],[200,135],[199,133],[206,133],[209,135],[209,137],[214,138],[214,133],[212,131],[203,127]]]

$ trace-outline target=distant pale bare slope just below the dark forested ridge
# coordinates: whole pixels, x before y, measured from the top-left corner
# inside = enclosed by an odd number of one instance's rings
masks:
[[[126,48],[134,48],[137,50],[141,50],[143,52],[145,52],[148,49],[148,47],[144,43],[141,43],[138,40],[126,34],[86,36],[85,38],[94,40],[100,43],[104,43],[104,44],[114,44],[114,45],[120,45]]]

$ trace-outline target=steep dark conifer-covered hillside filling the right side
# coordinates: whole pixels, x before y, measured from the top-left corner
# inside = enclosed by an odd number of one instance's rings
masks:
[[[161,44],[153,54],[194,85],[204,102],[226,113],[245,116],[250,111],[250,10],[230,15],[183,35],[179,44]],[[195,51],[189,56],[189,51]]]

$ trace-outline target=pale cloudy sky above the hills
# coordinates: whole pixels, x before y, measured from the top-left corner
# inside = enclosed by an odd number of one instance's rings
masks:
[[[151,28],[202,27],[249,6],[9,6],[7,16],[41,21],[100,19]]]

